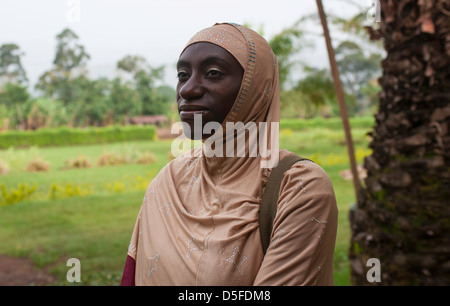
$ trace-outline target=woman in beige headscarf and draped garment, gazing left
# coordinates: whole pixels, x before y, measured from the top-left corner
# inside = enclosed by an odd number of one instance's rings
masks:
[[[263,135],[267,143],[278,136],[278,65],[270,46],[246,27],[215,24],[189,41],[177,69],[185,134],[204,145],[150,183],[122,285],[332,285],[337,207],[326,173],[309,161],[285,172],[264,254],[258,213],[272,170],[267,159],[275,166],[291,153],[276,141],[252,154],[250,139],[243,155],[220,143],[236,144],[239,134]],[[213,122],[221,124],[214,133],[207,128]],[[242,133],[237,123],[267,128]]]

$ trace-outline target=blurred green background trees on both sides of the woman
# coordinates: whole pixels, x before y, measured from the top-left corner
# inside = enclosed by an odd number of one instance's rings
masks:
[[[332,17],[337,33],[357,33],[341,39],[336,48],[349,113],[371,113],[379,90],[379,49],[366,52],[357,41],[362,26]],[[308,63],[317,40],[317,34],[307,31],[308,22],[318,23],[315,16],[309,16],[269,39],[279,62],[281,115],[339,116],[331,74],[327,68]],[[20,48],[14,44],[0,47],[0,129],[128,124],[138,115],[174,117],[174,89],[161,85],[164,66],[151,67],[141,55],[126,55],[116,63],[116,75],[93,79],[87,68],[88,48],[78,35],[64,29],[55,39],[52,67],[34,84],[37,94],[30,90]]]

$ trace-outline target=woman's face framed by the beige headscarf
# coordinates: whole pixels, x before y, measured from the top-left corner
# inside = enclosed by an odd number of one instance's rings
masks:
[[[190,45],[177,63],[177,103],[182,122],[191,129],[194,139],[194,115],[202,118],[202,139],[208,122],[222,124],[239,93],[244,70],[225,49],[199,42]],[[189,135],[188,135],[189,136]]]

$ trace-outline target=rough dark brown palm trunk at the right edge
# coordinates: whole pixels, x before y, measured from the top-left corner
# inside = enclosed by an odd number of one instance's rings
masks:
[[[350,212],[354,285],[450,285],[450,0],[381,0],[387,52],[367,178]],[[381,282],[369,283],[369,258]]]

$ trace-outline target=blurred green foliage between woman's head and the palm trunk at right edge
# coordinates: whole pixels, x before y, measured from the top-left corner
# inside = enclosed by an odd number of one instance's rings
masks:
[[[353,3],[353,1],[351,1]],[[364,28],[367,8],[355,4],[359,12],[348,18],[330,14],[333,38],[338,41],[335,48],[336,60],[344,86],[347,109],[350,116],[372,114],[380,87],[376,78],[381,72],[383,55],[379,43],[369,40]],[[329,69],[312,67],[294,55],[300,53],[309,58],[310,53],[302,52],[309,46],[310,28],[321,28],[317,14],[301,18],[295,25],[275,35],[274,53],[280,67],[282,118],[309,118],[339,116],[340,109],[334,92],[333,79]],[[348,35],[351,34],[351,35]],[[317,37],[317,40],[322,37]],[[342,40],[341,37],[345,37]],[[295,46],[295,48],[294,48]],[[315,47],[315,46],[314,46]],[[308,50],[308,52],[311,52]],[[312,51],[314,52],[314,50]],[[295,69],[292,69],[294,68]],[[286,86],[285,80],[291,86]]]

